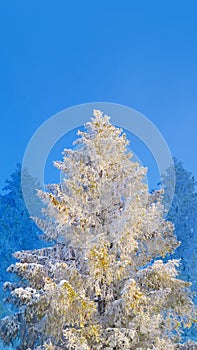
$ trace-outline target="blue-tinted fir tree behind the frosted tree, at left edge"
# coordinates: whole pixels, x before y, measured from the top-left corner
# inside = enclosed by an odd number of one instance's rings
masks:
[[[31,198],[36,198],[36,187],[38,183],[28,173],[24,174],[27,179],[29,193]],[[35,249],[46,246],[41,242],[39,235],[41,231],[38,226],[30,219],[26,209],[22,189],[21,189],[21,165],[17,164],[16,170],[9,180],[6,180],[6,186],[3,188],[5,193],[0,194],[0,285],[6,281],[13,281],[14,276],[6,271],[11,263],[16,259],[12,254],[21,249]],[[37,199],[38,201],[38,199]],[[4,296],[2,288],[0,290],[0,302]],[[4,306],[2,304],[2,306]],[[5,306],[1,308],[1,313],[7,310]]]

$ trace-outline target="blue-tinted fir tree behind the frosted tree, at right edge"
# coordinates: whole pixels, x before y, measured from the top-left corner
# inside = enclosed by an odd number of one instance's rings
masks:
[[[176,175],[175,194],[167,219],[175,226],[175,235],[181,241],[173,257],[181,259],[180,277],[185,281],[191,281],[191,290],[197,292],[197,191],[196,181],[191,172],[188,172],[181,161],[174,158],[174,169]],[[169,168],[167,175],[163,178],[165,196],[168,197],[168,183],[172,176]],[[197,304],[197,296],[194,295]],[[185,331],[186,337],[197,341],[197,331],[194,327]]]

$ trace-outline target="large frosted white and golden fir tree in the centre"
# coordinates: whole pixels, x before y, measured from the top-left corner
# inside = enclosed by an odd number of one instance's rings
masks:
[[[19,311],[1,321],[5,344],[19,349],[178,349],[181,326],[196,317],[179,245],[164,220],[162,196],[149,194],[146,169],[132,162],[122,130],[94,111],[76,150],[55,165],[61,184],[39,191],[53,247],[21,251],[7,283]]]

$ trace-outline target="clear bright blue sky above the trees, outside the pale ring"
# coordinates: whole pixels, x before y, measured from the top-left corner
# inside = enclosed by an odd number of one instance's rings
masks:
[[[36,129],[67,107],[148,117],[197,178],[196,1],[0,1],[0,187]]]

